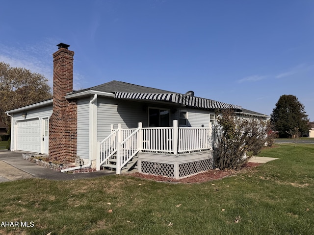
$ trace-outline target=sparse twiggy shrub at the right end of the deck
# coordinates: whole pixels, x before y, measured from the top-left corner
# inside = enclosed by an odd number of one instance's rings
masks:
[[[231,110],[222,112],[215,126],[214,162],[219,169],[236,169],[258,154],[271,137],[269,126],[260,120],[236,119]],[[246,156],[250,151],[251,156]]]

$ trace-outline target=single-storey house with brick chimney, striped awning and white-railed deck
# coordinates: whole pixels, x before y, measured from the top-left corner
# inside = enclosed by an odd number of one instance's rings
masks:
[[[212,167],[211,123],[222,109],[242,118],[266,115],[201,97],[111,81],[73,91],[68,45],[53,53],[53,98],[7,111],[11,150],[51,161],[182,178]],[[23,115],[23,116],[22,116]],[[127,170],[126,169],[126,170]]]

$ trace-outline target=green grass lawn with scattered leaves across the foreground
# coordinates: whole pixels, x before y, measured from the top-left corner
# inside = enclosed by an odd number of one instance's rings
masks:
[[[126,175],[0,183],[2,221],[34,225],[0,234],[313,235],[314,145],[277,145],[260,156],[279,159],[202,184]]]

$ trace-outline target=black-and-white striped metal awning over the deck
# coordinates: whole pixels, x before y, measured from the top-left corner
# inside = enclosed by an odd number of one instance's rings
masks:
[[[184,105],[186,107],[199,109],[233,109],[237,112],[242,110],[242,107],[234,104],[227,104],[211,99],[205,99],[195,96],[188,96],[178,93],[130,93],[116,92],[115,98],[119,99],[140,99],[140,100],[157,100],[165,102],[173,102]]]

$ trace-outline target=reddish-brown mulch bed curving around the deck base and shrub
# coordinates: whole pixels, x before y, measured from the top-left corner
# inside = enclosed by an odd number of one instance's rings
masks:
[[[131,176],[139,177],[143,179],[148,180],[155,180],[155,181],[162,181],[162,182],[172,182],[172,183],[202,183],[212,180],[218,180],[222,179],[227,176],[235,175],[237,173],[245,172],[247,170],[250,170],[261,163],[246,163],[242,165],[240,169],[237,170],[208,170],[206,172],[199,173],[197,175],[192,175],[190,177],[186,177],[180,180],[176,180],[173,178],[168,178],[164,176],[159,175],[148,175],[148,174],[142,174],[142,173],[133,173]]]

